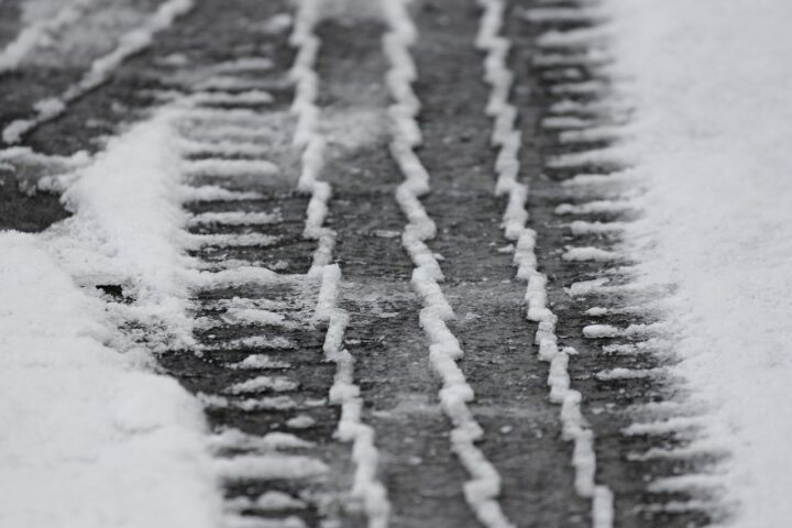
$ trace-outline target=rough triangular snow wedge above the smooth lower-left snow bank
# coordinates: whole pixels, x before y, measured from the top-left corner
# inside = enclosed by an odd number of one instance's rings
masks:
[[[160,329],[160,348],[193,339],[179,164],[168,112],[133,127],[77,173],[63,197],[75,216],[43,234],[78,283],[121,285],[135,300],[123,316]]]

